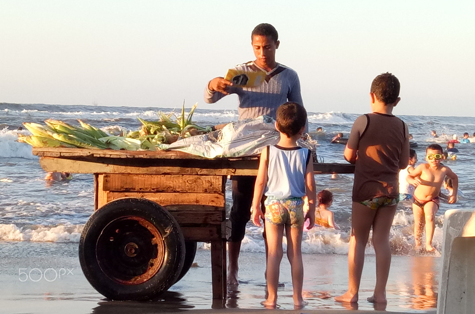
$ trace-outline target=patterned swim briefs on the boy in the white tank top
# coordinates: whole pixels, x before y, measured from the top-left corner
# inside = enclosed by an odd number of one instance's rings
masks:
[[[290,225],[292,228],[304,225],[304,201],[302,198],[278,200],[267,197],[265,205],[266,221],[275,225]]]

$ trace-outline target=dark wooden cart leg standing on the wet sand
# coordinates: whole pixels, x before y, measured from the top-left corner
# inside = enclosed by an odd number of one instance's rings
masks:
[[[211,241],[211,276],[213,299],[224,300],[227,293],[226,285],[226,241]]]

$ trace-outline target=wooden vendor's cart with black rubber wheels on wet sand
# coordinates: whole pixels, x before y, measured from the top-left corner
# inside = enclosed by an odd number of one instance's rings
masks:
[[[86,278],[114,300],[148,300],[190,268],[196,242],[211,243],[213,299],[226,297],[229,175],[257,175],[258,158],[183,152],[34,148],[46,171],[93,173],[94,209],[79,243]],[[315,173],[352,173],[314,163]],[[100,210],[98,210],[100,209]]]

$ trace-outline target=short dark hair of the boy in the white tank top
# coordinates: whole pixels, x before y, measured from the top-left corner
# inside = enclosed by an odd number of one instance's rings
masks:
[[[277,128],[287,136],[299,133],[307,122],[307,112],[303,105],[286,102],[277,108]]]

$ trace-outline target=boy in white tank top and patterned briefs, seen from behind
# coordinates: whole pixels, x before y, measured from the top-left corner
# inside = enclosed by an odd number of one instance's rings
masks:
[[[292,269],[294,305],[307,304],[302,297],[304,265],[302,262],[302,233],[306,219],[307,229],[315,223],[314,163],[310,151],[299,147],[296,141],[305,130],[307,113],[302,105],[287,102],[277,109],[276,129],[280,140],[267,146],[261,153],[252,202],[252,222],[261,226],[265,219],[267,235],[266,281],[268,297],[261,304],[276,308],[279,268],[283,256],[282,237],[287,237],[287,257]],[[261,199],[266,194],[266,214]],[[304,217],[302,198],[307,196],[309,211]]]

